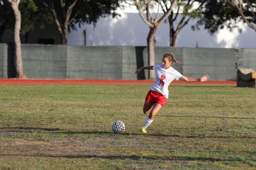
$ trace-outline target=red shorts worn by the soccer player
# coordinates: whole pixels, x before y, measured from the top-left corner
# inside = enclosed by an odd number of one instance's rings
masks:
[[[150,104],[154,103],[159,103],[162,106],[166,106],[166,101],[167,99],[164,97],[164,95],[154,91],[154,90],[149,90],[148,94],[146,96],[146,102]]]

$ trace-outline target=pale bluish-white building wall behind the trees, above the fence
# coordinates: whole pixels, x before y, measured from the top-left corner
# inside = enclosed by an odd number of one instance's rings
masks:
[[[86,45],[110,46],[146,46],[149,27],[142,21],[135,8],[119,10],[121,17],[100,18],[96,27],[92,24],[82,25],[77,31],[68,33],[68,45],[84,45],[86,30]],[[192,31],[191,26],[197,20],[190,20],[178,34],[176,47],[205,47],[205,48],[256,48],[256,32],[245,23],[238,23],[242,29],[229,31],[220,29],[214,35],[201,27]],[[176,23],[177,24],[177,23]],[[169,46],[169,23],[162,23],[156,31],[156,46]]]

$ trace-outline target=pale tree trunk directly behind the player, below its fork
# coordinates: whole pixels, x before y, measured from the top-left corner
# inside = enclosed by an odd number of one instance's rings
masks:
[[[148,65],[149,66],[155,65],[155,45],[156,45],[156,40],[155,40],[155,37],[154,37],[155,32],[156,32],[156,28],[150,27],[150,31],[149,31],[148,37],[147,37]],[[155,79],[154,70],[148,70],[148,79],[149,80],[154,80]]]

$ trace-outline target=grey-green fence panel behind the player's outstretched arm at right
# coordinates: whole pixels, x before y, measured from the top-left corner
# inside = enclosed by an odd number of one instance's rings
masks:
[[[184,48],[183,74],[201,77],[208,74],[211,80],[236,80],[236,50]]]

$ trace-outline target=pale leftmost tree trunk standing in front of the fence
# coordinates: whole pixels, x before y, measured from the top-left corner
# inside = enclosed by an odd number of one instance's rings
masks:
[[[26,78],[23,72],[22,64],[22,53],[21,53],[21,43],[20,43],[20,25],[21,25],[21,14],[18,4],[14,1],[9,1],[12,10],[15,15],[15,26],[14,26],[14,47],[15,47],[15,66],[16,66],[16,78]]]

